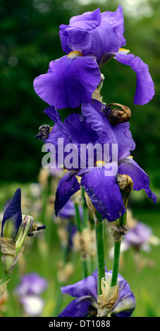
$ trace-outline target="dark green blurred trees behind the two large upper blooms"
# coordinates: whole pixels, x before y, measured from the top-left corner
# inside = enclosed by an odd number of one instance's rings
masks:
[[[1,181],[37,180],[42,144],[34,137],[49,118],[43,113],[48,105],[35,94],[32,83],[47,72],[50,61],[65,55],[59,25],[97,7],[115,11],[118,4],[125,16],[125,48],[149,65],[156,95],[149,104],[134,106],[135,73],[114,60],[101,70],[106,78],[101,94],[108,104],[130,107],[130,129],[137,145],[133,156],[149,174],[152,185],[160,187],[160,5],[155,0],[0,0]],[[62,118],[67,113],[61,110]]]

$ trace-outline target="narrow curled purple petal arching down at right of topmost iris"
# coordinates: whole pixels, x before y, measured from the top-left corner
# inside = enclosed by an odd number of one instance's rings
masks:
[[[152,100],[155,94],[154,82],[149,74],[148,65],[138,56],[135,57],[133,54],[125,54],[123,50],[116,53],[115,59],[120,63],[130,65],[137,75],[134,104],[144,105]]]

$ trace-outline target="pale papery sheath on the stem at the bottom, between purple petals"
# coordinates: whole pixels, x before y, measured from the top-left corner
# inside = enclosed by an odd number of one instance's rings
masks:
[[[104,278],[101,279],[101,292],[102,294],[98,296],[97,304],[97,316],[104,317],[109,316],[114,304],[118,300],[118,286],[109,287]]]

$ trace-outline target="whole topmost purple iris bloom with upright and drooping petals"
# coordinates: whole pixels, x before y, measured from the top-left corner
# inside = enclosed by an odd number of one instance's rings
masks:
[[[114,57],[130,65],[137,75],[134,103],[147,104],[154,96],[154,82],[148,65],[121,49],[126,42],[123,32],[121,6],[115,12],[100,13],[98,8],[71,18],[69,25],[60,26],[59,32],[63,51],[68,55],[51,61],[47,73],[35,78],[35,92],[58,109],[90,102],[101,80],[99,68]]]

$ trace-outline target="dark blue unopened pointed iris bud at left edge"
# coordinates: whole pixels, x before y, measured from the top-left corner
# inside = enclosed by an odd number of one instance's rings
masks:
[[[21,190],[20,187],[18,187],[4,212],[1,226],[1,237],[8,237],[15,241],[21,223]]]

